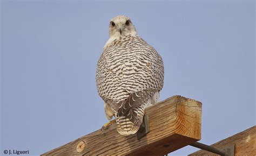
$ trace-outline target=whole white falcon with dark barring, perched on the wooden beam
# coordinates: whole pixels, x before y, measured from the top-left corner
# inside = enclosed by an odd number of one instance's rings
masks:
[[[129,17],[111,19],[109,34],[97,64],[97,89],[107,118],[116,117],[118,132],[127,136],[138,131],[145,108],[159,102],[164,65]]]

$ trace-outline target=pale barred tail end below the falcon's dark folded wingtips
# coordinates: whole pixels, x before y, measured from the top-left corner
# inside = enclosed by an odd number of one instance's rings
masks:
[[[116,118],[117,131],[123,136],[129,136],[130,134],[136,133],[139,130],[140,124],[142,124],[142,119],[133,123],[127,116]]]

